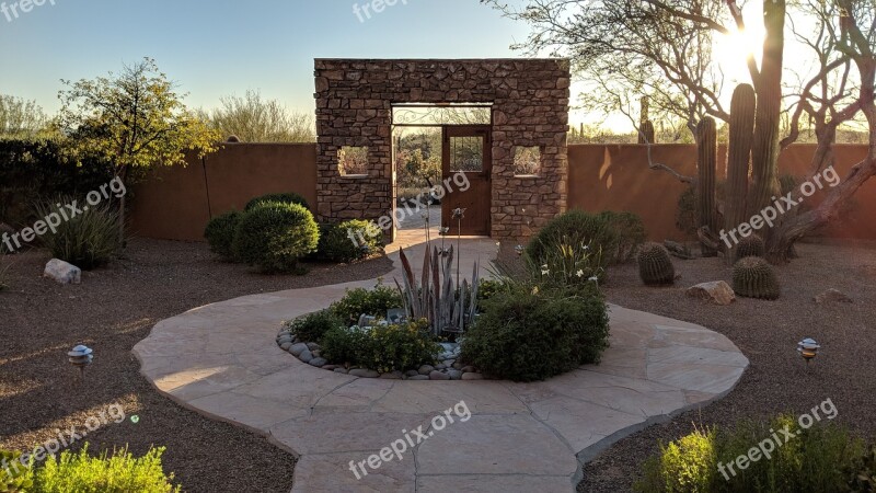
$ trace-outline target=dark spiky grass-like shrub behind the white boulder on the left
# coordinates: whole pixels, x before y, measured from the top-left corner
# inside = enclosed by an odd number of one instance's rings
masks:
[[[71,198],[59,198],[36,206],[36,215],[43,218],[59,218],[55,230],[39,237],[43,244],[56,259],[69,262],[83,271],[110,263],[118,251],[118,211],[111,204],[80,207],[76,217],[62,220],[64,214],[56,204],[73,204]]]

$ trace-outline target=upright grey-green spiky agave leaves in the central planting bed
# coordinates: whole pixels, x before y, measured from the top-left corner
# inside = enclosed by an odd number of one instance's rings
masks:
[[[477,308],[477,286],[480,265],[475,262],[472,272],[472,284],[462,280],[459,289],[453,288],[453,255],[451,245],[446,255],[426,245],[423,257],[423,272],[419,282],[411,267],[411,261],[400,250],[404,276],[402,284],[395,285],[402,295],[403,308],[408,320],[426,319],[436,336],[442,332],[462,333],[474,320]],[[457,261],[459,268],[459,261]]]

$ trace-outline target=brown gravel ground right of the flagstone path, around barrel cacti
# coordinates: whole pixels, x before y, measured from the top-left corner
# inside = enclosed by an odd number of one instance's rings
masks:
[[[687,287],[711,280],[730,282],[723,259],[681,261],[676,287],[647,288],[636,266],[609,271],[608,299],[625,308],[648,311],[704,325],[729,337],[751,362],[736,389],[723,400],[685,412],[620,440],[588,463],[579,492],[630,491],[639,466],[667,443],[690,433],[693,425],[729,426],[740,419],[806,413],[826,399],[840,422],[862,436],[876,438],[876,248],[873,245],[800,244],[800,257],[776,267],[783,294],[776,301],[737,298],[727,307],[708,305],[684,294]],[[510,248],[503,251],[514,262]],[[812,298],[837,288],[853,303],[816,305]],[[805,337],[822,349],[807,368],[796,352]]]

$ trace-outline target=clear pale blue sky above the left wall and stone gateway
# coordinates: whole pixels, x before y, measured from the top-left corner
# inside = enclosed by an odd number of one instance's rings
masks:
[[[0,0],[9,9],[21,0]],[[257,89],[313,111],[313,58],[517,57],[528,27],[477,0],[397,0],[360,22],[370,0],[44,0],[0,13],[0,93],[58,108],[60,79],[154,58],[192,107]],[[54,5],[51,2],[54,1]]]

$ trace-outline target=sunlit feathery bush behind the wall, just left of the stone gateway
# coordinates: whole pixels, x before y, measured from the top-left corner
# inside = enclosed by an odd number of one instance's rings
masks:
[[[313,118],[290,112],[276,100],[265,100],[257,91],[244,96],[221,99],[221,107],[209,114],[210,128],[223,137],[244,142],[315,142]]]

